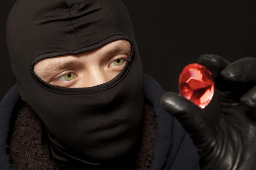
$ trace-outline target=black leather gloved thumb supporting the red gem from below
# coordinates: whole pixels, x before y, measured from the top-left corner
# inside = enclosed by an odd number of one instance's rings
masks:
[[[204,110],[178,94],[168,92],[160,100],[164,110],[172,114],[183,125],[198,146],[216,135],[212,122],[206,118]]]

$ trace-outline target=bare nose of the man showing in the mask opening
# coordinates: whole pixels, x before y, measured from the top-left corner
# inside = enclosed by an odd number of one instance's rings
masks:
[[[104,74],[104,71],[98,67],[90,68],[87,72],[86,77],[83,81],[84,87],[93,87],[96,85],[101,85],[105,82],[108,82],[107,75]]]

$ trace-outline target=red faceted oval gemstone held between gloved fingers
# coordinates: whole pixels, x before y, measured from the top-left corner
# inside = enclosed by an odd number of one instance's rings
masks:
[[[186,99],[205,108],[214,94],[212,73],[203,65],[187,65],[180,73],[179,92]]]

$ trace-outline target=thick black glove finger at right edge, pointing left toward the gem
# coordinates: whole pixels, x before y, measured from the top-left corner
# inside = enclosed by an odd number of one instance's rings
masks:
[[[256,82],[256,58],[245,57],[230,63],[221,71],[224,79],[230,82]]]

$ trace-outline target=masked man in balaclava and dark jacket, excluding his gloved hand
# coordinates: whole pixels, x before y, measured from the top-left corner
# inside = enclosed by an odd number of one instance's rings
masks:
[[[6,30],[17,85],[0,106],[1,169],[199,169],[121,1],[18,0]]]

